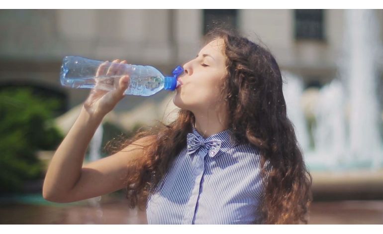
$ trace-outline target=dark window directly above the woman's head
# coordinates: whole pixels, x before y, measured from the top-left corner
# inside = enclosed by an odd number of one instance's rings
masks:
[[[237,28],[237,9],[204,9],[203,34],[216,26]]]

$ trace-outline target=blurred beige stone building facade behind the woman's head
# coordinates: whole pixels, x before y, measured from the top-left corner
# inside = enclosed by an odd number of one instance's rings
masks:
[[[376,15],[383,25],[383,10]],[[337,75],[342,9],[0,10],[0,88],[31,86],[63,100],[65,112],[89,90],[61,87],[64,56],[125,59],[169,74],[195,57],[202,35],[217,21],[260,39],[281,69],[301,76],[306,87],[320,87]],[[156,95],[161,100],[167,93]],[[126,111],[145,100],[132,96],[120,106]]]

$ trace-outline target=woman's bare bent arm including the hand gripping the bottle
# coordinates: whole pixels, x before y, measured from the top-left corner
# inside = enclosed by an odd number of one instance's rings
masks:
[[[126,64],[126,61],[114,60],[111,65],[107,62],[101,64],[97,69],[96,77],[103,74],[118,75],[120,64]],[[82,166],[86,150],[97,126],[101,123],[102,118],[125,97],[124,91],[129,82],[128,76],[122,76],[116,89],[112,91],[92,89],[81,109],[80,116],[57,148],[50,162],[43,185],[43,197],[46,200],[70,202],[99,196],[100,193],[121,188],[121,184],[116,183],[114,179],[120,178],[122,171],[126,169],[128,163],[126,158],[141,156],[139,151],[133,150],[134,153],[127,154],[116,153],[110,158],[93,162],[84,169]],[[101,184],[97,181],[108,184]],[[88,189],[86,191],[78,190],[78,186],[75,186],[78,184],[79,187],[84,187],[83,183],[87,182],[97,184],[85,186]],[[74,193],[76,196],[73,195]]]

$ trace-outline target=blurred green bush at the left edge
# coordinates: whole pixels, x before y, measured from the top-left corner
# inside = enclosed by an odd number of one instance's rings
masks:
[[[0,191],[19,191],[25,180],[43,176],[37,150],[55,150],[63,136],[54,127],[59,101],[29,88],[0,91]]]

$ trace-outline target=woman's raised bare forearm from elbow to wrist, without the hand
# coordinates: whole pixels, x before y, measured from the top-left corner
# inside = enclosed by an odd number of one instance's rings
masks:
[[[81,176],[85,153],[102,117],[91,117],[84,109],[57,148],[45,175],[44,198],[65,196]]]

